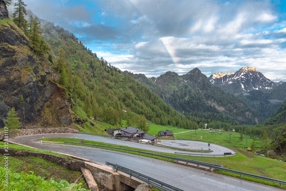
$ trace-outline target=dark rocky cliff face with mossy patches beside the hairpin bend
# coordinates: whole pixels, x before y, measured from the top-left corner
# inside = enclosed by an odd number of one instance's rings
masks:
[[[65,101],[65,93],[54,83],[59,74],[44,56],[32,53],[28,44],[29,39],[11,20],[0,23],[0,128],[11,107],[15,107],[24,127],[31,122],[35,127],[46,125],[42,121],[35,124],[35,120],[50,98],[59,100],[50,105],[57,104],[51,112],[57,116],[55,122],[58,126],[68,126],[72,123],[71,101]]]

